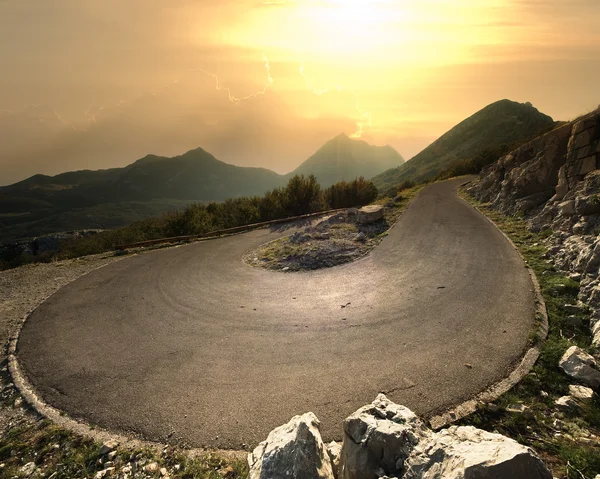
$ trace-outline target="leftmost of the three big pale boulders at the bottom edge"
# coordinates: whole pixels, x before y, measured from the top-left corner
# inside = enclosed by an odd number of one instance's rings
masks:
[[[248,455],[248,478],[334,479],[319,424],[309,412],[271,431]]]

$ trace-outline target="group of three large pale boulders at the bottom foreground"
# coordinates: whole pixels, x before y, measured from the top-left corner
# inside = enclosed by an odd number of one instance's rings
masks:
[[[552,477],[531,449],[512,439],[470,426],[433,432],[410,409],[383,394],[344,421],[341,453],[339,447],[331,443],[324,448],[312,413],[297,416],[250,454],[250,477],[328,477],[322,474],[329,461],[336,465],[331,477],[337,479]]]

